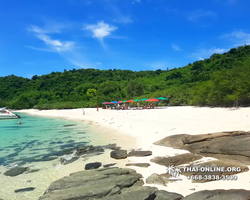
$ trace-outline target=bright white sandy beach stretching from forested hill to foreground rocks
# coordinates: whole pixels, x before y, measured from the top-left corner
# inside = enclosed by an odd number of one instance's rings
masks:
[[[150,162],[156,156],[174,156],[187,153],[169,147],[156,146],[153,143],[164,137],[175,134],[206,134],[221,131],[249,131],[250,108],[196,108],[196,107],[168,107],[152,110],[102,110],[86,108],[86,115],[82,109],[72,110],[22,110],[31,115],[64,118],[69,120],[91,123],[100,131],[100,137],[117,143],[122,149],[151,150],[152,156],[134,158],[129,157],[123,161],[110,159],[106,156],[105,164],[118,163],[117,166],[125,167],[126,163],[150,163],[148,168],[130,167],[141,173],[144,180],[152,173],[166,173],[166,167]],[[102,161],[101,158],[98,158]],[[89,162],[90,160],[88,160]],[[73,166],[73,164],[72,164]],[[71,167],[72,168],[72,167]],[[77,167],[75,170],[78,170]],[[65,170],[65,169],[64,169]],[[70,172],[71,173],[71,172]],[[67,174],[67,173],[63,173]],[[184,196],[200,190],[213,189],[249,189],[250,172],[238,174],[237,181],[212,181],[208,183],[191,183],[184,176],[182,181],[169,183],[167,186],[158,186],[169,192],[180,193]],[[195,190],[191,190],[195,188]]]

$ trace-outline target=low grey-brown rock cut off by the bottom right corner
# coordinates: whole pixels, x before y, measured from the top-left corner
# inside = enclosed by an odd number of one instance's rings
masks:
[[[190,194],[184,200],[249,200],[248,190],[203,190]]]

